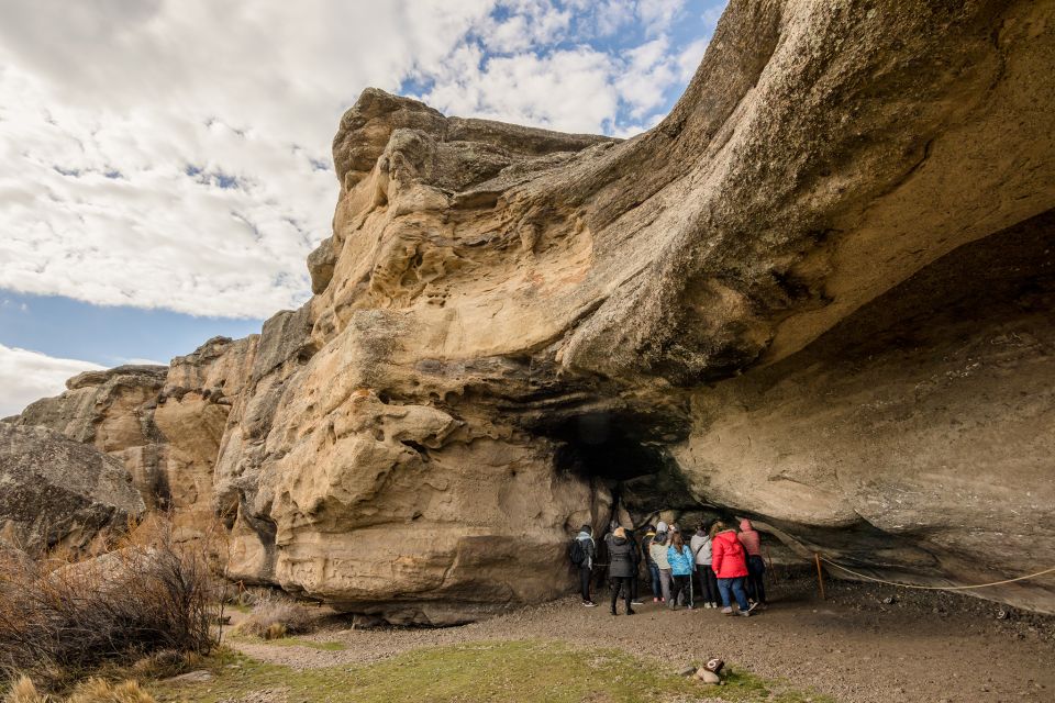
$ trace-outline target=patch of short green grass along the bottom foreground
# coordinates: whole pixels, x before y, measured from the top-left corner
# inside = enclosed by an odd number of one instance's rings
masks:
[[[252,691],[281,690],[291,701],[329,703],[635,703],[646,701],[778,701],[814,703],[782,684],[733,670],[728,685],[685,679],[658,662],[615,649],[574,647],[558,641],[481,641],[431,647],[373,665],[297,671],[221,652],[207,683],[155,683],[160,703],[216,703]],[[775,691],[774,698],[769,692]]]

